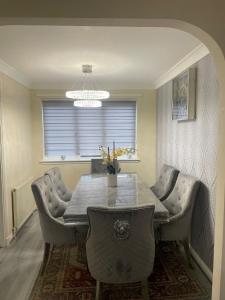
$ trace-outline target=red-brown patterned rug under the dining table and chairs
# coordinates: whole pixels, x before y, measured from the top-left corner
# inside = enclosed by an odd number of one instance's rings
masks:
[[[198,271],[200,272],[200,271]],[[204,280],[195,276],[173,243],[156,249],[149,277],[151,300],[211,299]],[[208,284],[209,285],[209,284]],[[102,285],[105,300],[141,300],[140,284]],[[95,280],[87,270],[85,247],[54,248],[43,276],[38,276],[30,300],[93,300]]]

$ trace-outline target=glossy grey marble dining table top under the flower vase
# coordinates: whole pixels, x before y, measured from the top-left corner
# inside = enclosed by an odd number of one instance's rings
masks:
[[[63,215],[65,222],[87,221],[88,206],[139,207],[155,205],[154,219],[166,221],[169,212],[133,173],[117,175],[117,187],[108,187],[107,175],[82,175]]]

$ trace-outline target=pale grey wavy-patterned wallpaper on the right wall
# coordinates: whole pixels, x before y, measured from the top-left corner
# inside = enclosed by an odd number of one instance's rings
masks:
[[[163,163],[202,182],[195,204],[191,245],[212,270],[218,130],[218,81],[210,55],[197,64],[196,120],[172,121],[172,81],[157,91],[157,175]]]

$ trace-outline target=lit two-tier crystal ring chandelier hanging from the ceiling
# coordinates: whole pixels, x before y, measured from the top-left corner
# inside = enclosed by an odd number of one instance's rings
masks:
[[[84,74],[83,84],[81,90],[67,91],[66,97],[75,99],[74,106],[78,107],[100,107],[102,102],[100,100],[108,99],[110,94],[108,91],[101,91],[94,88],[93,82],[89,79],[92,73],[92,65],[82,65]],[[87,86],[89,88],[87,88]]]

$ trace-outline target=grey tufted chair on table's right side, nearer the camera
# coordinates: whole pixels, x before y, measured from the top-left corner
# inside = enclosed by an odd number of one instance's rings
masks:
[[[160,240],[180,241],[190,261],[189,238],[192,211],[200,182],[192,176],[180,173],[171,194],[162,202],[170,212],[169,222],[160,225]]]

